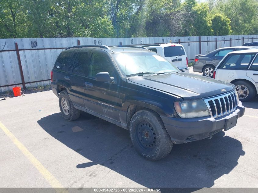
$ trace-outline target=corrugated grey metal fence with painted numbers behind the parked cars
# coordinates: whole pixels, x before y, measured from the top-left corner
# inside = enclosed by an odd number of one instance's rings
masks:
[[[76,45],[144,45],[180,43],[190,60],[216,48],[258,41],[258,35],[159,37],[159,38],[22,38],[0,39],[0,92],[14,86],[50,84],[50,71],[61,51]]]

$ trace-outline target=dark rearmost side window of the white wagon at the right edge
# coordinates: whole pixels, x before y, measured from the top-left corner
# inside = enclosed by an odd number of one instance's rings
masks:
[[[252,61],[254,54],[234,54],[228,55],[221,63],[220,68],[225,69],[247,69]]]

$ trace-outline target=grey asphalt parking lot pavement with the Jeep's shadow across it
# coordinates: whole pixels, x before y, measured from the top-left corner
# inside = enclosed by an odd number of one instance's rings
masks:
[[[174,144],[162,160],[137,154],[129,131],[87,113],[68,122],[52,91],[0,101],[0,187],[258,188],[258,99],[237,126]]]

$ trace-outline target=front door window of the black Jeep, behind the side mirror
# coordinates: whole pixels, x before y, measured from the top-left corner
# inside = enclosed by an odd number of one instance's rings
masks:
[[[108,72],[114,77],[114,65],[102,53],[93,53],[89,63],[89,77],[96,77],[99,72]]]

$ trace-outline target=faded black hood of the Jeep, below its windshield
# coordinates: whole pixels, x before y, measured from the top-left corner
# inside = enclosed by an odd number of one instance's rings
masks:
[[[233,84],[192,73],[129,78],[131,82],[165,91],[183,99],[206,98],[231,91]]]

